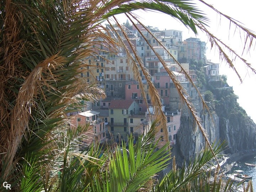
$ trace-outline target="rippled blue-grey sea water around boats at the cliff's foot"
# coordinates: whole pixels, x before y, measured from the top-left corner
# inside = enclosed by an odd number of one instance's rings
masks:
[[[235,170],[242,170],[244,171],[242,174],[252,176],[253,190],[256,191],[256,167],[247,166],[245,163],[256,164],[256,156],[248,156],[237,161],[230,170],[229,174],[234,173]],[[247,183],[245,183],[245,186],[247,186]]]

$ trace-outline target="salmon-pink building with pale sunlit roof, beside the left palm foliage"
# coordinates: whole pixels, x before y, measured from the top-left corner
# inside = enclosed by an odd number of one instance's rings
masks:
[[[91,144],[92,142],[101,143],[106,140],[108,130],[105,128],[104,119],[98,118],[99,114],[99,112],[90,110],[70,117],[71,128],[89,125],[86,131],[88,138],[83,141],[85,144]]]

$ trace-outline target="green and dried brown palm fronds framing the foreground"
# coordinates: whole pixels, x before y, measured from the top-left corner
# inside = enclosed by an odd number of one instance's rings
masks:
[[[202,0],[198,2],[205,4]],[[190,0],[1,0],[0,7],[0,183],[6,181],[11,183],[13,191],[28,192],[223,189],[221,180],[215,177],[213,182],[210,180],[212,177],[206,168],[208,162],[217,159],[219,147],[209,145],[191,165],[173,169],[157,180],[156,174],[168,166],[170,158],[165,148],[157,150],[157,142],[153,142],[154,126],[135,145],[131,138],[128,149],[106,148],[100,156],[99,146],[91,146],[81,154],[74,151],[74,146],[79,144],[79,138],[86,137],[86,127],[70,130],[66,116],[69,107],[79,106],[81,101],[105,97],[101,89],[79,77],[80,73],[90,70],[83,59],[94,57],[100,43],[113,53],[118,47],[124,47],[123,39],[106,33],[103,22],[112,17],[122,29],[114,16],[125,13],[134,23],[137,18],[133,10],[161,11],[177,18],[195,33],[197,29],[203,30],[231,67],[234,68],[232,60],[221,46],[255,72],[246,60],[208,32],[208,19],[196,4]],[[250,45],[253,43],[254,33],[218,13],[243,30]],[[142,85],[139,69],[143,71],[158,119],[165,125],[159,94],[135,47],[132,44],[130,47],[135,56],[127,51],[127,57],[132,61],[134,75]],[[166,68],[164,60],[159,59]],[[186,91],[175,75],[169,70],[168,73],[208,142]],[[167,139],[167,134],[165,137]]]

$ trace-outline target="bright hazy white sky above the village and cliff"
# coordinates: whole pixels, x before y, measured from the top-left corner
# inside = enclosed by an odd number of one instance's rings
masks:
[[[197,1],[195,1],[197,2]],[[246,28],[249,28],[252,31],[256,31],[256,2],[253,0],[208,0],[206,1],[209,4],[212,4],[216,9],[223,12],[224,14],[234,18],[235,20],[240,21]],[[205,10],[206,14],[210,18],[210,23],[208,30],[212,32],[215,36],[219,37],[223,42],[228,44],[231,48],[235,49],[237,53],[242,53],[242,42],[243,42],[243,34],[240,34],[239,31],[234,32],[234,27],[231,26],[231,30],[229,30],[229,22],[224,17],[219,17],[213,11],[210,11],[205,6],[200,6],[202,10]],[[140,11],[136,12],[138,16],[140,16],[140,21],[144,25],[150,25],[153,27],[158,27],[159,30],[164,29],[176,29],[183,31],[183,40],[189,37],[196,37],[191,30],[188,30],[181,23],[177,22],[170,16],[148,12]],[[123,16],[118,17],[121,23],[126,22],[126,18]],[[199,32],[197,38],[200,38],[202,41],[208,42],[207,37],[204,33]],[[255,45],[254,41],[254,45]],[[252,73],[247,73],[247,69],[244,65],[236,60],[235,66],[239,71],[242,79],[244,80],[242,84],[238,77],[235,75],[234,71],[229,69],[229,67],[224,63],[219,61],[219,54],[213,48],[210,50],[210,44],[207,44],[207,59],[211,59],[212,62],[220,63],[220,74],[225,74],[228,76],[228,84],[233,86],[233,90],[235,94],[239,96],[239,104],[242,106],[247,114],[256,122],[256,76],[252,75]],[[255,46],[253,46],[254,48]],[[245,59],[250,61],[252,66],[256,69],[256,50],[252,49],[250,53],[243,55]]]

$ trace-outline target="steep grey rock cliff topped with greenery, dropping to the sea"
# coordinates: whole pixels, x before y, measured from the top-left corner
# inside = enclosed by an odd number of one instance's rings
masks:
[[[228,147],[224,151],[225,154],[255,149],[256,124],[236,102],[237,96],[234,95],[233,90],[218,91],[215,95],[218,100],[210,106],[215,109],[212,118],[209,114],[200,116],[210,142],[226,140]],[[180,158],[186,161],[193,159],[204,145],[205,139],[193,117],[184,113],[181,116],[181,127],[175,146],[176,151],[180,151]]]

